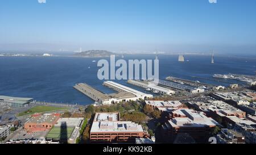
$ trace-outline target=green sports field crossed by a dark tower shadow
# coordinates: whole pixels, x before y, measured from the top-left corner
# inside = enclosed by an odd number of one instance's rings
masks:
[[[60,127],[53,127],[51,131],[49,131],[49,133],[47,134],[46,138],[54,139],[54,140],[65,139],[65,138],[68,139],[71,136],[73,129],[74,127],[67,127],[64,129],[61,129]]]

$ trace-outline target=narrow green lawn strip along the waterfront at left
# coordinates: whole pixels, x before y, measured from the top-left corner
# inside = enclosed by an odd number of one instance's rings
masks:
[[[36,107],[30,108],[27,111],[20,112],[18,114],[18,116],[31,115],[31,114],[47,112],[47,111],[64,110],[64,109],[68,109],[68,108],[65,108],[65,107],[52,107],[52,106],[36,106]]]

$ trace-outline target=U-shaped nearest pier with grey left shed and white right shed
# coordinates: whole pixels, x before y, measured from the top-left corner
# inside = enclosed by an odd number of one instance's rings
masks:
[[[123,101],[146,99],[153,97],[151,94],[145,94],[141,91],[137,91],[129,87],[119,85],[118,83],[112,81],[104,82],[104,85],[113,88],[114,90],[118,91],[118,93],[105,94],[87,85],[86,83],[77,83],[74,86],[74,88],[80,91],[82,94],[85,94],[89,98],[101,104],[113,104]]]

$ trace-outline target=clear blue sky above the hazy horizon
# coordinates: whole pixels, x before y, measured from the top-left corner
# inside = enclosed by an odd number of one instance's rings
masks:
[[[0,50],[249,52],[255,0],[8,0]]]

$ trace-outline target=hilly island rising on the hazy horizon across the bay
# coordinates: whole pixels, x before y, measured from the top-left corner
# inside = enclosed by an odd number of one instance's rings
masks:
[[[115,55],[115,53],[104,50],[90,50],[75,54],[75,56],[80,57],[110,57],[110,55]]]

